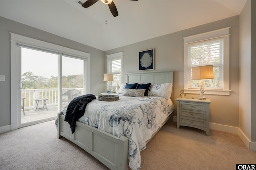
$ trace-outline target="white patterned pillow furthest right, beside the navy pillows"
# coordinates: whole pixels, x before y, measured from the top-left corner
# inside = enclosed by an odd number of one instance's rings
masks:
[[[172,83],[151,84],[148,96],[159,96],[170,99],[172,94]]]

